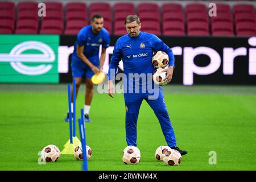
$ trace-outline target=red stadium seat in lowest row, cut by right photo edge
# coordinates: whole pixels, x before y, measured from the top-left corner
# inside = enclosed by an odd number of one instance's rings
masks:
[[[256,35],[256,23],[241,22],[236,24],[237,36],[252,36]]]

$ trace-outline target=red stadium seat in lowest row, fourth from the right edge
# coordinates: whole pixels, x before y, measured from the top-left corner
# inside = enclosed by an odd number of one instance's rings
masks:
[[[179,21],[168,21],[163,23],[164,36],[183,36],[185,35],[184,23]]]

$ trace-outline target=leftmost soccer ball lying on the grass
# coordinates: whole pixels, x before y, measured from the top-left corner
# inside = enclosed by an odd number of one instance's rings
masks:
[[[46,162],[56,162],[60,158],[60,150],[54,144],[49,144],[41,151],[41,158]]]

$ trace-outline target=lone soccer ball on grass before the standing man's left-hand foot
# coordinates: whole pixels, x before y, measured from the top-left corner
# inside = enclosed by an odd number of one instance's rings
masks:
[[[127,146],[123,150],[123,163],[138,164],[141,161],[141,151],[134,146]]]

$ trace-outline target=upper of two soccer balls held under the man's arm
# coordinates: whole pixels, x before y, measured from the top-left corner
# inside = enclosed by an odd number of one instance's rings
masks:
[[[164,68],[169,63],[169,56],[163,51],[155,52],[152,57],[152,64],[155,68]]]

